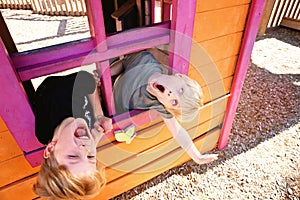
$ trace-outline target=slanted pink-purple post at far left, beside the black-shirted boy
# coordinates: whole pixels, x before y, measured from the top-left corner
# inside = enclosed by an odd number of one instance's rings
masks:
[[[19,76],[0,39],[0,115],[22,151],[43,145],[35,137],[34,114]]]

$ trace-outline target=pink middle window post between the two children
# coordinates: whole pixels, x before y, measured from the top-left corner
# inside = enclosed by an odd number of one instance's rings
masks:
[[[103,18],[102,3],[99,0],[86,1],[91,36],[95,38],[96,50],[107,51],[107,40]],[[114,97],[112,93],[112,81],[109,69],[109,61],[96,62],[96,67],[101,81],[101,93],[106,105],[108,115],[115,114]]]

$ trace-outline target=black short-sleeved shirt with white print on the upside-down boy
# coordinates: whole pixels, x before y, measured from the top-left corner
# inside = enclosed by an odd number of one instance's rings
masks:
[[[93,76],[85,71],[47,77],[38,87],[33,105],[38,140],[48,144],[54,129],[67,117],[83,118],[91,128],[94,114],[87,95],[95,88]]]

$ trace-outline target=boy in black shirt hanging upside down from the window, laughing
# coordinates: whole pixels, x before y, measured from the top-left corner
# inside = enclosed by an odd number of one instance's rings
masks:
[[[33,107],[36,136],[47,145],[34,192],[50,199],[97,195],[105,175],[96,145],[103,132],[112,129],[112,120],[103,116],[93,76],[80,71],[47,77]]]

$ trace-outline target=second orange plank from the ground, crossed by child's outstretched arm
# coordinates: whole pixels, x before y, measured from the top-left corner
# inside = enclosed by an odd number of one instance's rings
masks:
[[[193,128],[192,130],[189,131],[191,138],[199,137],[203,133],[215,128],[216,126],[222,123],[223,117],[224,117],[224,113]],[[138,155],[131,157],[130,159],[126,159],[125,161],[120,162],[116,165],[107,167],[106,168],[107,181],[111,182],[123,175],[126,175],[127,173],[130,173],[131,171],[134,171],[146,165],[147,163],[152,162],[153,160],[157,159],[161,155],[167,154],[178,147],[179,147],[178,143],[175,142],[173,138],[170,138],[166,142],[157,145],[149,150],[146,150],[145,152],[141,152]]]

